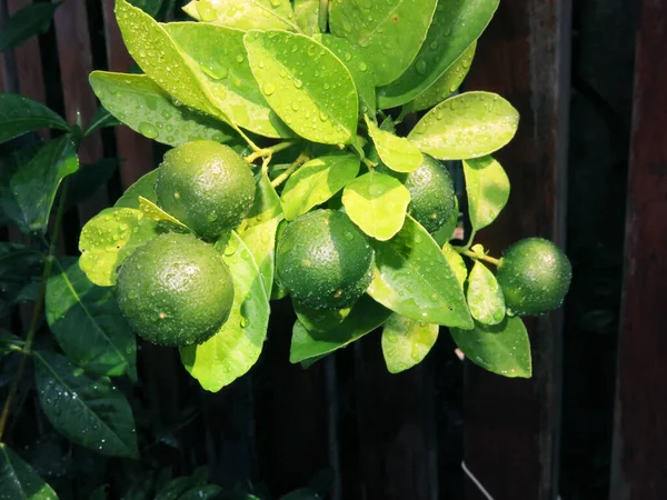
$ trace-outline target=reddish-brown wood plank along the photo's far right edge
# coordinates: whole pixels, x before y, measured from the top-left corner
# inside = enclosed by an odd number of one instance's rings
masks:
[[[667,498],[667,1],[639,8],[611,500]]]

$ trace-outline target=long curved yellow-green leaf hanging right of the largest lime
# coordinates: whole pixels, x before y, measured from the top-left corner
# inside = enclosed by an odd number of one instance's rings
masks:
[[[211,339],[181,348],[181,361],[207,391],[217,392],[245,374],[261,353],[269,300],[257,263],[236,232],[222,257],[233,279],[229,319]]]

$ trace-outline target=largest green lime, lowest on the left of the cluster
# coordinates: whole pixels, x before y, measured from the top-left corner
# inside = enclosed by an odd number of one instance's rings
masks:
[[[220,254],[192,234],[161,234],[118,274],[118,306],[139,337],[165,347],[201,343],[227,321],[233,283]]]

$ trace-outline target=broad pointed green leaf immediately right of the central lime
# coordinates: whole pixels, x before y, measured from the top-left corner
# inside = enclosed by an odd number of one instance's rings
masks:
[[[445,253],[410,216],[396,238],[371,240],[376,271],[368,293],[407,318],[471,328],[472,319]]]

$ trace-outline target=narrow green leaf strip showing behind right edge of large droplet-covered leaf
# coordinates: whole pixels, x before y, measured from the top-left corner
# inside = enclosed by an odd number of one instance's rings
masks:
[[[345,38],[331,34],[317,34],[313,38],[331,50],[347,67],[357,87],[361,113],[374,116],[376,113],[375,78],[361,51]]]

